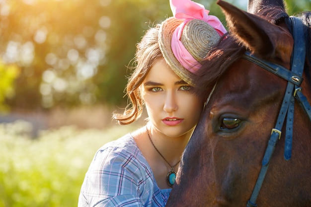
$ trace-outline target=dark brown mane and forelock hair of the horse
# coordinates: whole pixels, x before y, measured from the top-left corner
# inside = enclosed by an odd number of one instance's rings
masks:
[[[259,15],[274,24],[278,24],[280,21],[285,20],[291,31],[291,23],[288,14],[278,7],[264,7],[261,9]],[[308,30],[305,72],[309,83],[311,83],[311,12],[302,12],[299,17],[303,19],[306,30]],[[202,68],[197,73],[195,82],[199,86],[199,93],[202,94],[203,92],[204,95],[207,95],[206,92],[212,89],[217,79],[221,77],[234,62],[239,60],[245,51],[246,48],[239,43],[230,32],[225,34],[209,52],[206,59],[202,62]]]

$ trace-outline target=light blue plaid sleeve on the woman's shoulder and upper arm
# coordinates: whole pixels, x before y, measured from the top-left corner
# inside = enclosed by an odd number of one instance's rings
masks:
[[[136,156],[122,148],[97,151],[82,184],[78,207],[143,207],[147,178],[143,169]]]

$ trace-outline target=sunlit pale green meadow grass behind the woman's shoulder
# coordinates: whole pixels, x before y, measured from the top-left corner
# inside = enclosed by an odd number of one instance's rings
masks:
[[[0,125],[0,207],[77,207],[85,172],[95,151],[133,127],[105,131],[73,126],[41,132],[31,125]]]

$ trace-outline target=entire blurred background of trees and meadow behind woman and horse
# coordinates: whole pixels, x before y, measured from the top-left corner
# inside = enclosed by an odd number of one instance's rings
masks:
[[[225,22],[216,0],[197,2]],[[0,0],[0,207],[77,206],[95,151],[144,124],[111,115],[136,44],[171,15],[168,0]]]

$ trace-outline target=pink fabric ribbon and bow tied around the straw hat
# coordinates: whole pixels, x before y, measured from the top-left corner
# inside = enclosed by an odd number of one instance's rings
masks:
[[[173,32],[171,41],[173,54],[185,69],[195,73],[200,69],[201,65],[192,57],[180,41],[185,24],[191,19],[201,19],[211,25],[220,36],[227,31],[221,21],[216,16],[208,15],[210,11],[206,10],[200,3],[192,0],[169,0],[169,4],[174,17],[184,19],[184,22]]]

